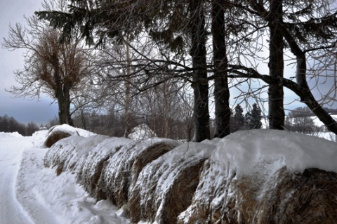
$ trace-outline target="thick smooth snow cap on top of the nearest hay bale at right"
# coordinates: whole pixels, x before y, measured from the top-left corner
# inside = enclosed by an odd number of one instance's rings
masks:
[[[337,143],[288,131],[237,131],[220,140],[211,159],[237,178],[265,172],[266,167],[272,173],[282,166],[293,172],[337,172]]]

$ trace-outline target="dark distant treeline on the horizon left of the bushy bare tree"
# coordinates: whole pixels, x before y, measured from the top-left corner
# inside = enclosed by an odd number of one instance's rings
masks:
[[[22,136],[32,136],[32,134],[39,130],[39,126],[34,122],[29,122],[28,124],[21,124],[13,117],[0,116],[0,132],[15,132],[17,131]]]

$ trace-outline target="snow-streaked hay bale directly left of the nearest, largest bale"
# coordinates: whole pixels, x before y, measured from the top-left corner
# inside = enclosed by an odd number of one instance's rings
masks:
[[[201,166],[214,149],[213,144],[185,143],[147,164],[129,192],[131,220],[176,223],[190,205]]]

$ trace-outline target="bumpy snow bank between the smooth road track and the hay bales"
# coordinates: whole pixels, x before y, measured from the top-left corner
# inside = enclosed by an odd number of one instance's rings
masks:
[[[18,173],[18,200],[35,224],[129,223],[117,216],[111,202],[90,197],[74,174],[55,177],[53,169],[44,169],[45,152],[41,147],[26,149]]]

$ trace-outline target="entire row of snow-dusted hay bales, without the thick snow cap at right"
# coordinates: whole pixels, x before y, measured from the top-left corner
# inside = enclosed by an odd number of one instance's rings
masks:
[[[48,150],[45,166],[75,173],[133,223],[337,223],[336,173],[283,167],[237,179],[212,159],[217,141],[71,136]]]

